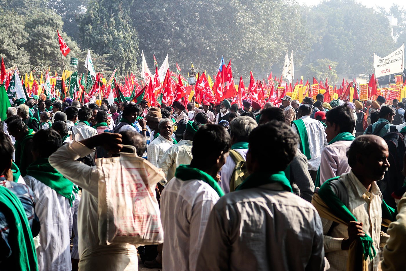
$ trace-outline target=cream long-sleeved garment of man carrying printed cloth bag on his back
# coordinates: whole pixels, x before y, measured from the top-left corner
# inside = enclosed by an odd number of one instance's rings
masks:
[[[51,166],[83,189],[78,210],[79,269],[138,270],[137,250],[134,245],[99,245],[98,185],[99,179],[104,178],[103,170],[75,161],[93,152],[94,150],[82,143],[74,141],[63,145],[49,157]]]

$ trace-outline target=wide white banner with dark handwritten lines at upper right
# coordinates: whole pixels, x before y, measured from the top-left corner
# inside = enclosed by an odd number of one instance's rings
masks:
[[[403,57],[405,45],[402,44],[396,51],[386,57],[378,57],[374,53],[375,77],[403,72]]]

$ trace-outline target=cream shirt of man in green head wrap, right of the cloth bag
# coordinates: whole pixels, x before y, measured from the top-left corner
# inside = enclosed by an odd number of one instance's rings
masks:
[[[188,165],[190,161],[192,161],[192,141],[181,140],[162,155],[158,167],[162,168],[166,179],[171,180],[175,177],[176,168],[180,165]]]

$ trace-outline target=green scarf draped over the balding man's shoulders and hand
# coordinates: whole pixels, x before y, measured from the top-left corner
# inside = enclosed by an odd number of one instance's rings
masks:
[[[328,205],[331,212],[337,216],[339,219],[345,221],[346,223],[350,221],[357,221],[355,216],[348,210],[348,208],[344,205],[344,203],[335,195],[333,190],[330,187],[330,181],[337,180],[340,176],[328,179],[325,181],[320,187],[318,195]],[[382,199],[382,219],[389,219],[390,221],[395,220],[395,210],[388,206],[386,202]],[[375,255],[376,251],[372,246],[373,240],[372,238],[365,233],[365,236],[358,237],[360,239],[359,249],[362,251],[364,255],[364,260],[367,260],[368,256],[372,260]]]

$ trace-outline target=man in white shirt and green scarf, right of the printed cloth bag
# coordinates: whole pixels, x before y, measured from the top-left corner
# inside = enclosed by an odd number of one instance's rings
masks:
[[[197,268],[197,256],[210,211],[224,192],[215,180],[231,146],[229,133],[218,125],[201,127],[193,138],[193,159],[181,165],[161,195],[164,229],[163,270]],[[204,247],[203,249],[212,249]]]

